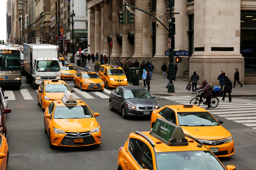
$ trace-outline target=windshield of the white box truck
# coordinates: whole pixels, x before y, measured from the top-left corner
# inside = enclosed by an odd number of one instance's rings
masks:
[[[39,60],[36,63],[36,71],[60,71],[58,60]]]

